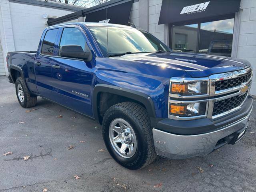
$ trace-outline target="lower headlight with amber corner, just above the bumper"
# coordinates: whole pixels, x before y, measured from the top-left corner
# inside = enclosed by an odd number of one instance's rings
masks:
[[[169,114],[179,117],[192,117],[204,115],[207,102],[175,104],[169,103]]]

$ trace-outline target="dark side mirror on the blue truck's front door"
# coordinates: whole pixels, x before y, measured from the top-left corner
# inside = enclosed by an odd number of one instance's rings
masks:
[[[89,51],[84,51],[80,45],[63,45],[60,46],[60,56],[83,59],[85,61],[92,60],[92,53]]]

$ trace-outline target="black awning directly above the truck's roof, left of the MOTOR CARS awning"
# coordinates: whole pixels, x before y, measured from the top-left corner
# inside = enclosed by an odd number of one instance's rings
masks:
[[[125,2],[116,6],[86,14],[85,22],[103,22],[128,25],[133,1]]]

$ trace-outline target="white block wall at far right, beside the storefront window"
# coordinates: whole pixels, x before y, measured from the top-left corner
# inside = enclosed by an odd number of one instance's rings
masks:
[[[253,82],[250,93],[256,95],[256,1],[241,0],[241,24],[237,57],[252,64]]]

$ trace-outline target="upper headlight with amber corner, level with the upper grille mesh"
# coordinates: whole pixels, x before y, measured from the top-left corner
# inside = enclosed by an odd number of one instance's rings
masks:
[[[207,94],[208,81],[200,82],[171,82],[170,93],[182,96]]]

